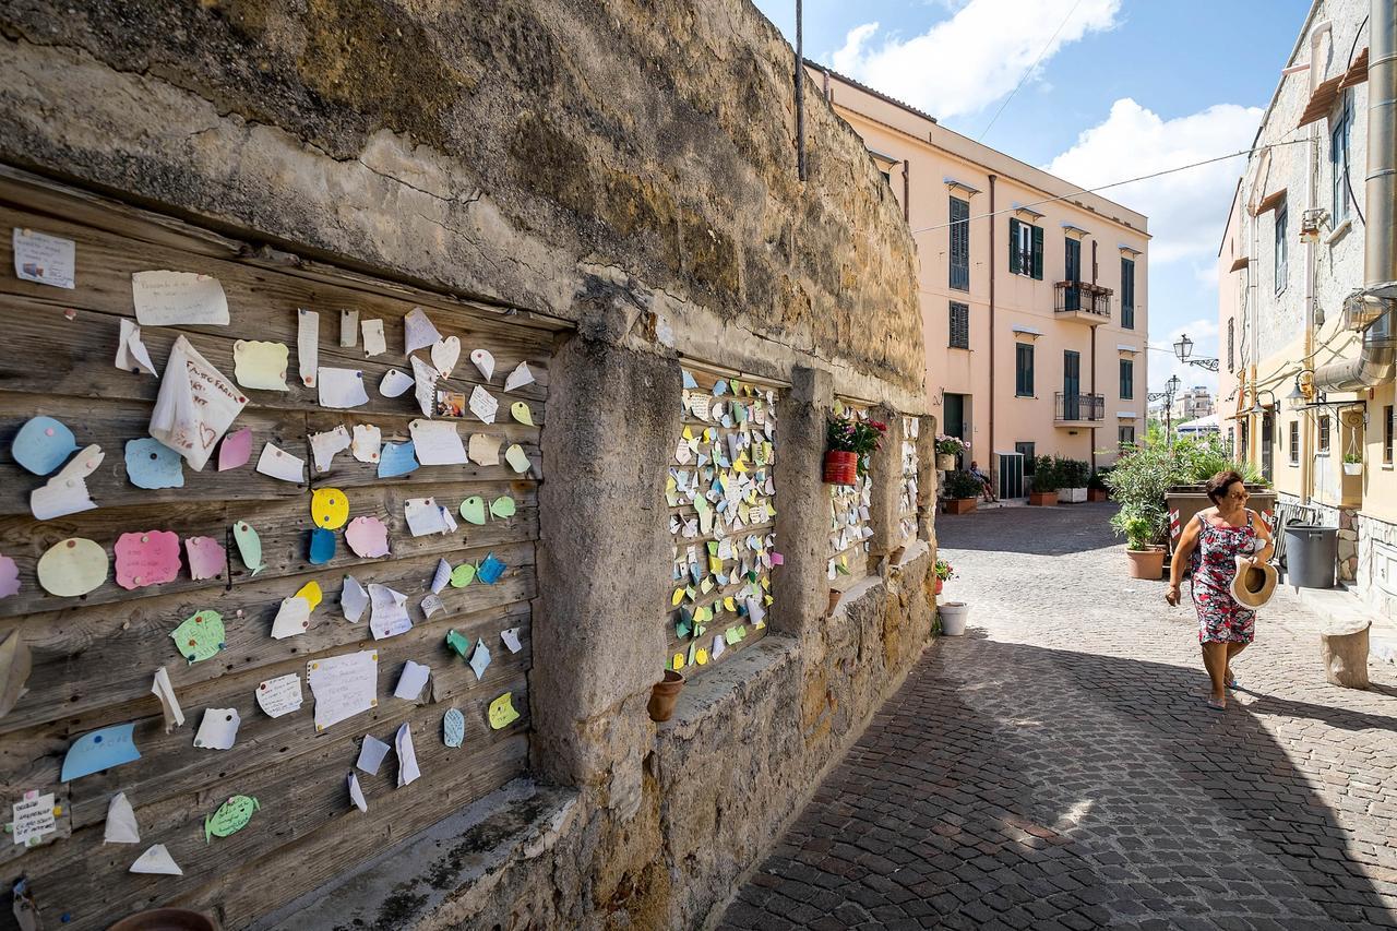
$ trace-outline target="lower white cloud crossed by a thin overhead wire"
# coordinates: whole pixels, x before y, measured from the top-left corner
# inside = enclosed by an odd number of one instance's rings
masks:
[[[1130,98],[1083,131],[1045,171],[1083,187],[1200,162],[1252,144],[1261,109],[1220,103],[1171,120]],[[1162,264],[1217,254],[1243,161],[1227,159],[1101,192],[1150,218],[1150,259]]]

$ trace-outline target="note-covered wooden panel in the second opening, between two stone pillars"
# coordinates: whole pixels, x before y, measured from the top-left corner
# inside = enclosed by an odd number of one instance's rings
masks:
[[[665,493],[668,496],[666,503],[669,505],[671,531],[673,534],[675,598],[679,598],[679,601],[678,604],[672,602],[666,605],[664,623],[669,644],[669,668],[679,670],[686,677],[693,678],[703,674],[704,670],[712,668],[717,663],[722,663],[735,650],[752,646],[767,632],[764,622],[760,625],[749,623],[742,594],[752,593],[753,586],[756,586],[754,590],[760,593],[764,608],[770,609],[771,566],[764,565],[761,555],[753,554],[740,544],[749,538],[757,538],[761,541],[761,547],[767,555],[780,552],[780,547],[775,545],[774,513],[768,513],[757,523],[746,520],[752,507],[763,507],[768,503],[773,509],[775,507],[775,495],[764,491],[764,482],[770,479],[774,492],[775,450],[778,449],[775,401],[780,389],[770,382],[738,376],[712,366],[700,366],[687,359],[683,368],[693,377],[697,387],[686,389],[680,400],[683,405],[682,429],[689,429],[698,439],[698,449],[697,452],[690,452],[687,463],[676,460],[675,447],[666,450],[669,457],[669,484]],[[725,384],[725,389],[722,394],[715,396],[712,389],[719,382]],[[745,424],[735,422],[732,426],[724,426],[711,410],[708,417],[698,415],[704,411],[703,403],[710,405],[722,404],[724,410],[729,411],[729,415],[732,405],[740,403],[749,411],[749,419]],[[767,433],[768,426],[770,436]],[[707,442],[704,440],[705,431],[711,431]],[[759,485],[763,485],[763,491],[756,495],[754,500],[742,503],[743,519],[738,523],[729,523],[725,514],[715,513],[712,533],[704,534],[694,528],[687,531],[692,535],[686,535],[686,523],[697,521],[698,512],[693,505],[693,493],[675,488],[679,484],[680,474],[687,472],[693,477],[696,485],[692,488],[696,488],[700,493],[708,492],[718,477],[735,477],[736,472],[732,468],[715,467],[711,461],[711,454],[717,443],[722,443],[724,449],[726,449],[728,436],[742,433],[752,438],[752,449],[756,449],[763,442],[771,443],[771,456],[764,466],[754,464],[750,450],[747,454],[749,474],[757,478]],[[683,440],[683,436],[676,436],[675,440],[679,443]],[[698,466],[697,456],[700,453],[710,457],[710,461],[704,466]],[[708,565],[710,554],[707,549],[710,541],[717,542],[724,538],[731,540],[736,547],[735,558],[722,561],[721,572],[729,579],[726,584],[718,582],[718,573]],[[689,573],[690,555],[693,555],[693,562],[698,565],[700,583],[694,583]],[[749,566],[752,573],[756,573],[754,582],[740,575],[743,563]],[[704,583],[712,586],[710,591],[703,591],[701,586]],[[728,607],[728,598],[732,598],[732,608]],[[683,633],[679,628],[682,611],[692,614],[698,608],[711,609],[714,612],[712,619],[701,623],[704,628],[701,635],[697,633],[697,626],[689,633]],[[726,643],[728,630],[738,632],[742,639],[736,643]],[[725,637],[724,650],[722,656],[711,660],[714,637],[717,636]]]

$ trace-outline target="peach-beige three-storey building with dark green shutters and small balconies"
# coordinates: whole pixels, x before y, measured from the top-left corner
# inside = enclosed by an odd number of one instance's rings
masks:
[[[1146,217],[858,81],[807,74],[916,235],[929,403],[967,460],[1017,498],[1032,456],[1106,464],[1143,438]]]

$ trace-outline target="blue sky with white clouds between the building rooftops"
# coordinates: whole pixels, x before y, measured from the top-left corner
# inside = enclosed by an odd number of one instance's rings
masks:
[[[795,0],[756,4],[795,39]],[[806,0],[805,49],[972,138],[1007,99],[982,141],[1092,187],[1250,145],[1309,6]],[[1243,165],[1236,158],[1102,192],[1150,217],[1151,345],[1187,331],[1196,354],[1217,355],[1217,246]],[[1150,354],[1150,390],[1179,370],[1171,362]],[[1179,377],[1217,384],[1199,368]]]

